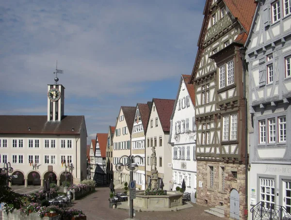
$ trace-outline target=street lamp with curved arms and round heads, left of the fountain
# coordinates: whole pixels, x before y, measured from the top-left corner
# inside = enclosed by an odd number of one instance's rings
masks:
[[[129,159],[129,162],[127,164],[125,164],[125,165],[123,165],[123,163],[120,162],[121,158],[123,158],[123,157],[126,157],[126,158]],[[144,160],[144,158],[139,156],[139,155],[136,155],[136,156],[132,156],[132,155],[126,156],[126,155],[124,155],[124,156],[119,158],[119,163],[117,163],[115,165],[116,171],[118,171],[118,172],[122,172],[124,167],[125,167],[125,169],[127,171],[129,171],[130,181],[133,181],[133,172],[137,172],[138,171],[138,165],[136,163],[134,163],[134,158],[135,157],[141,158],[142,161]],[[133,199],[130,199],[130,197],[129,197],[129,200],[130,200],[129,201],[130,219],[132,219],[133,218]]]

